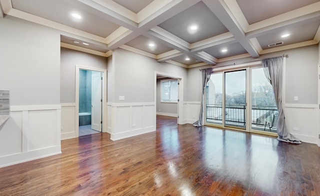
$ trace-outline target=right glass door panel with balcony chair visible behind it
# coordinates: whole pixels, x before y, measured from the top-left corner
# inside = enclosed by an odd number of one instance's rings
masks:
[[[277,109],[272,86],[262,67],[252,69],[251,75],[251,129],[276,133]]]

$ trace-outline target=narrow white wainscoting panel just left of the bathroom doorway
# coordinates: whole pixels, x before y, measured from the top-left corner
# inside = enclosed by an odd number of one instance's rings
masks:
[[[75,103],[61,103],[61,140],[76,138]]]

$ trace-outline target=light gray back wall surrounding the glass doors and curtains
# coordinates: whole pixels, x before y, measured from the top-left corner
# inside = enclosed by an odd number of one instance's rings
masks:
[[[317,64],[319,61],[318,45],[310,45],[290,50],[264,54],[259,59],[243,58],[234,61],[225,61],[218,63],[214,67],[232,65],[233,63],[245,63],[263,58],[280,56],[288,54],[286,58],[285,69],[285,114],[286,125],[291,134],[300,140],[308,143],[317,144],[318,139],[318,75]],[[206,66],[207,67],[207,66]],[[205,67],[200,67],[205,68]],[[199,67],[188,69],[187,84],[188,89],[192,89],[192,93],[188,91],[187,100],[189,103],[200,101],[200,80],[201,74]],[[293,97],[298,96],[298,101],[293,101]],[[187,108],[188,111],[195,110],[194,107]],[[190,117],[197,116],[198,111],[188,112],[188,120]],[[298,128],[299,131],[293,131]]]

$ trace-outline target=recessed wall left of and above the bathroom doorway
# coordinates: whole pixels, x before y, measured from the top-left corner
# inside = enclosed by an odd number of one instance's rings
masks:
[[[107,58],[68,48],[60,48],[61,140],[75,138],[75,66],[107,69]]]

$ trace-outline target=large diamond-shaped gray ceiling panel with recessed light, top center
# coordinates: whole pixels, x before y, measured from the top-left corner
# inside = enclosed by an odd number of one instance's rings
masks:
[[[192,31],[189,29],[190,25],[196,25],[198,28]],[[228,31],[202,1],[162,22],[159,26],[188,43]]]

